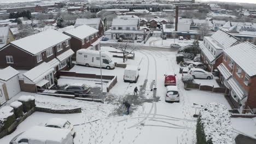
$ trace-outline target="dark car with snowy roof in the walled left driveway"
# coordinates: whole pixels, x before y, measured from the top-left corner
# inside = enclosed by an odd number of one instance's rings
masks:
[[[83,97],[83,94],[88,94],[91,88],[83,83],[73,83],[65,87],[65,91],[71,91],[78,94],[79,97]]]

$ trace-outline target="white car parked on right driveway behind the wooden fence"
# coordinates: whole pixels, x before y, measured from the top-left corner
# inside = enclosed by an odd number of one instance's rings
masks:
[[[199,69],[199,68],[191,68],[188,71],[188,75],[192,75],[194,77],[194,79],[199,78],[199,79],[208,79],[211,80],[213,79],[213,74],[205,71],[203,69]]]

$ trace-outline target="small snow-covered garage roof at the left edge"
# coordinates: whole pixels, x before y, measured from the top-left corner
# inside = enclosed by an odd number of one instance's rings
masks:
[[[12,67],[7,67],[0,70],[0,80],[8,81],[11,77],[18,75],[20,72]]]

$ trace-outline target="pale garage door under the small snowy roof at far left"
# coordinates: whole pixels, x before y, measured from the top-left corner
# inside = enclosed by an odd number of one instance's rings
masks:
[[[9,99],[20,92],[20,83],[18,80],[18,75],[9,79],[5,84],[7,87]]]

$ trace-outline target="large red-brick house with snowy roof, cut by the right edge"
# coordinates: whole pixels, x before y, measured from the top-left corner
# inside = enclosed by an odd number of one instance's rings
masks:
[[[244,42],[224,49],[218,66],[221,82],[230,89],[230,99],[237,109],[256,113],[256,46]],[[242,112],[242,110],[240,111]]]

